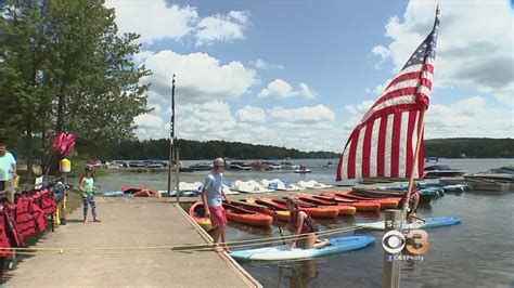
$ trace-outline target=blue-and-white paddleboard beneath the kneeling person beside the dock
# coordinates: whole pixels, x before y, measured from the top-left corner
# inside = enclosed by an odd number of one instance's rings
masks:
[[[291,245],[280,245],[257,249],[233,251],[230,256],[239,260],[296,260],[338,254],[363,249],[375,240],[371,236],[342,236],[329,238],[330,246],[311,249],[291,249]]]

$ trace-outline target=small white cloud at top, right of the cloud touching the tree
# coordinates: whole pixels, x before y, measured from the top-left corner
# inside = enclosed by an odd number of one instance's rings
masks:
[[[217,14],[200,21],[195,34],[196,45],[215,41],[243,39],[249,24],[248,11],[231,11],[228,15]]]

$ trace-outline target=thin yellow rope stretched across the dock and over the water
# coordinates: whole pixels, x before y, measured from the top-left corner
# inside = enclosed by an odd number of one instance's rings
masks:
[[[333,235],[349,231],[361,230],[363,227],[349,226],[335,230],[325,230],[317,232],[317,235]],[[223,245],[230,248],[242,248],[252,246],[262,246],[283,241],[293,241],[298,239],[306,239],[311,236],[311,233],[299,235],[287,235],[279,237],[268,237],[261,239],[247,239],[239,241],[226,243],[208,243],[208,244],[193,244],[193,245],[177,245],[177,246],[150,246],[150,247],[27,247],[27,248],[0,248],[0,251],[12,250],[16,254],[141,254],[141,253],[162,253],[162,252],[184,252],[184,251],[210,251],[215,246]]]

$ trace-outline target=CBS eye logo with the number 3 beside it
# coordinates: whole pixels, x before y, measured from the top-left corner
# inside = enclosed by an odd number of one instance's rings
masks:
[[[428,251],[428,233],[424,230],[411,230],[407,236],[399,231],[389,231],[382,238],[384,250],[391,254],[399,253],[407,249],[412,254],[423,254]]]

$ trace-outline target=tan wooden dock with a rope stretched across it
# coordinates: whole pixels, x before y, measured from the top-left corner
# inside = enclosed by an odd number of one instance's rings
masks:
[[[82,223],[78,208],[66,225],[47,232],[36,246],[62,252],[22,257],[17,269],[4,274],[5,285],[261,287],[224,253],[158,248],[209,240],[169,198],[97,197],[97,208],[101,223]]]

